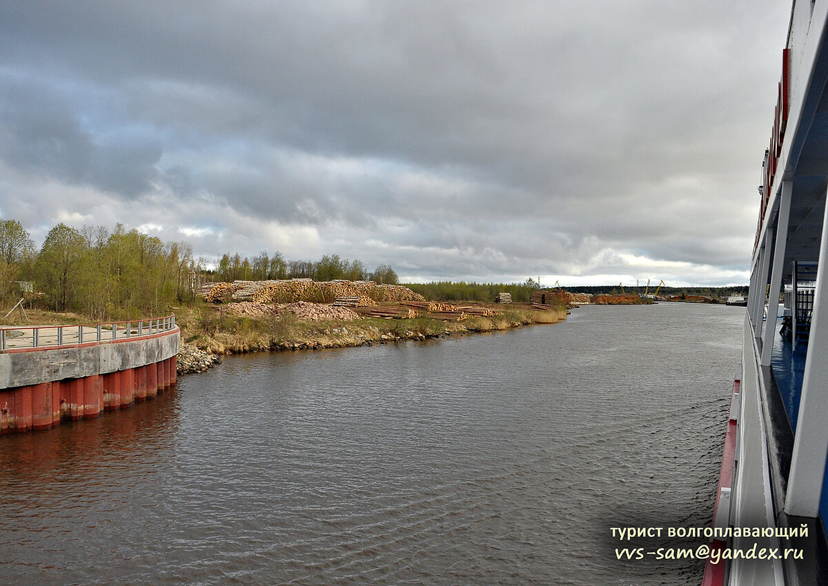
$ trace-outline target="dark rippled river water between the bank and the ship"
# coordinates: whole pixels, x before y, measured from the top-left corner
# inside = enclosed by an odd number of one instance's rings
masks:
[[[700,584],[697,560],[617,560],[610,527],[709,525],[743,319],[585,306],[233,357],[2,436],[2,583]]]

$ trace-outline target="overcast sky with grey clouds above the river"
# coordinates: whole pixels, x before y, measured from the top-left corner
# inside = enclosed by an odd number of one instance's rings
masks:
[[[744,284],[789,2],[0,0],[0,217]]]

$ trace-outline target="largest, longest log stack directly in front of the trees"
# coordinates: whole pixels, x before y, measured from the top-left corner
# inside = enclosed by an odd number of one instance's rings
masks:
[[[331,303],[337,298],[357,297],[374,302],[422,301],[425,298],[402,285],[384,285],[373,281],[233,281],[208,283],[199,294],[209,303],[253,301],[253,303],[295,303],[310,301]]]

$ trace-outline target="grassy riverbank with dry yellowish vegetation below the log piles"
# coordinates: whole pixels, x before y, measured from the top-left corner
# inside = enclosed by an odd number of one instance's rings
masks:
[[[290,312],[235,315],[221,305],[200,304],[176,310],[185,343],[212,353],[244,353],[301,348],[346,348],[400,339],[426,339],[511,329],[528,324],[554,324],[566,309],[532,310],[528,305],[500,306],[502,315],[470,315],[461,321],[414,319],[299,319]]]

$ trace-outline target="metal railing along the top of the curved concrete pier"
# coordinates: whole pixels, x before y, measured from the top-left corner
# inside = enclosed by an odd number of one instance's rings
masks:
[[[141,338],[176,329],[176,315],[91,325],[37,325],[0,328],[0,352]]]

